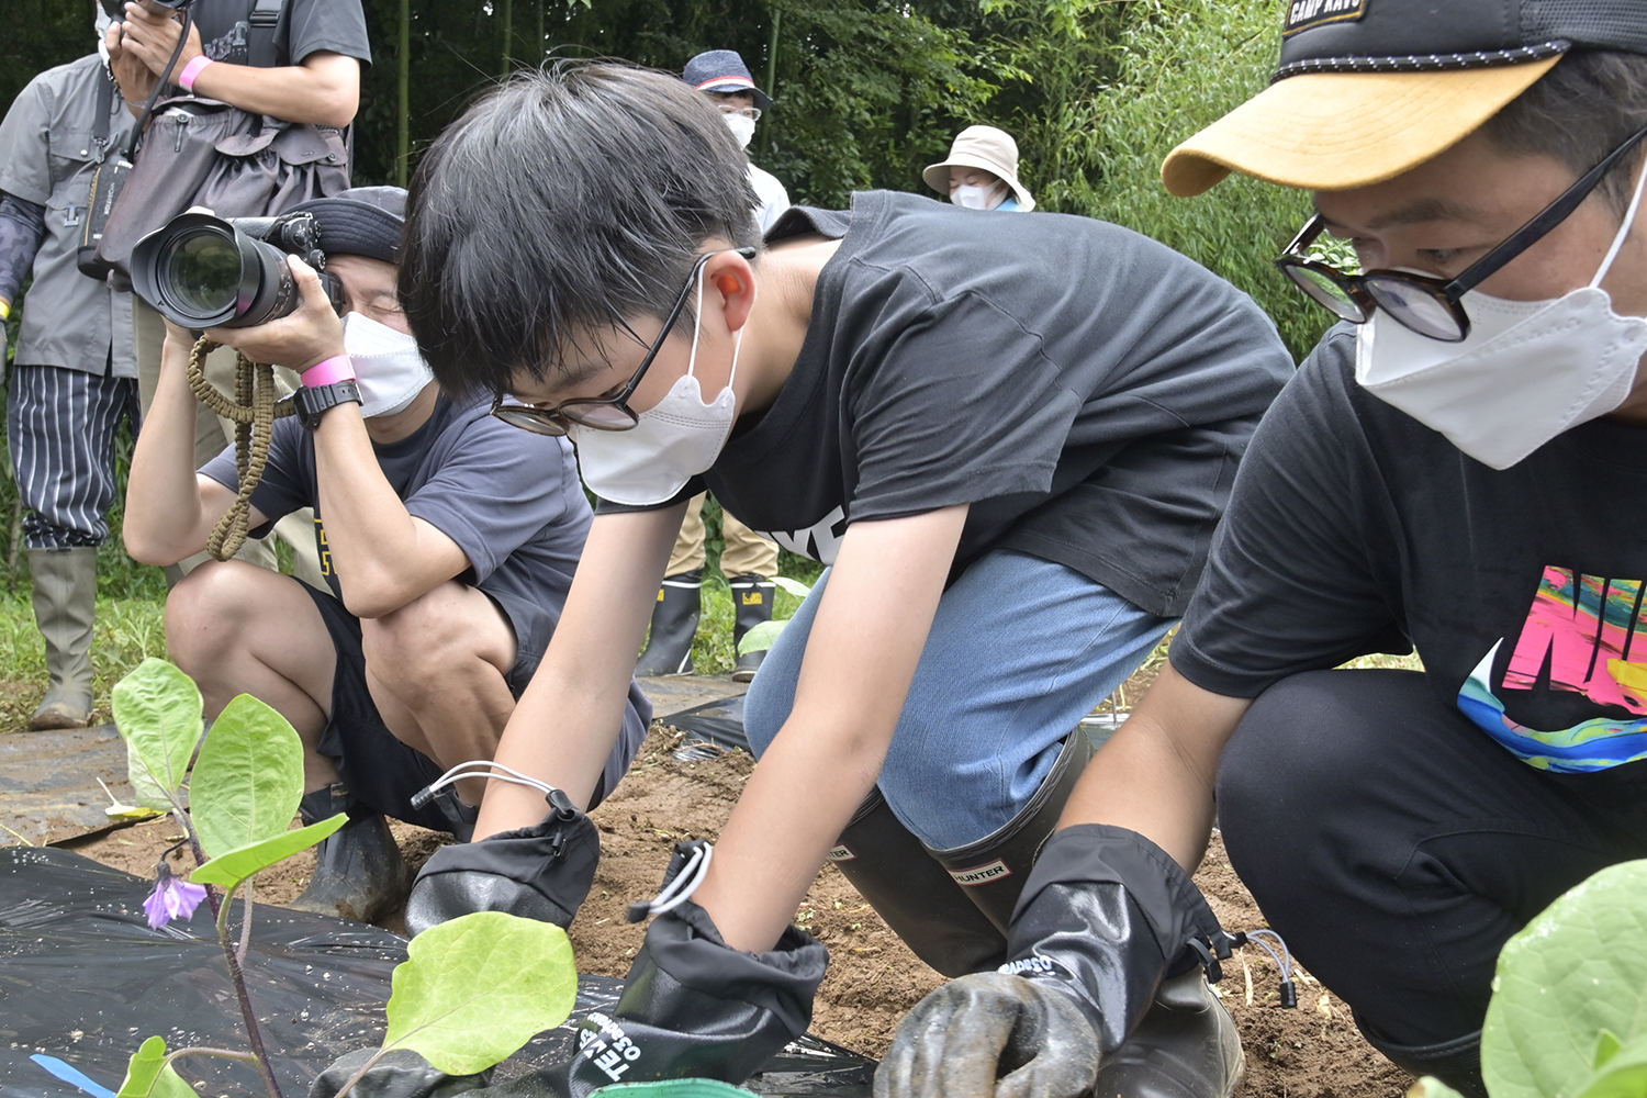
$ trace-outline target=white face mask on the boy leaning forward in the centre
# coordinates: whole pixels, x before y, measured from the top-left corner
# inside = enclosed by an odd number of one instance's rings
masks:
[[[695,375],[698,336],[703,333],[703,270],[698,270],[698,311],[692,324],[692,357],[685,375],[677,380],[657,407],[641,413],[641,421],[628,431],[598,431],[572,425],[572,441],[578,444],[578,471],[591,492],[614,504],[641,507],[672,499],[687,481],[712,464],[726,444],[738,418],[738,400],[731,390],[738,377],[738,351],[743,329],[733,336],[731,374],[713,402],[705,403]]]

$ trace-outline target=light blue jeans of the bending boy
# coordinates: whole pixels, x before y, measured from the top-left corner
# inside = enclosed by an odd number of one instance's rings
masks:
[[[756,756],[789,719],[827,583],[825,571],[749,686],[743,723]],[[1171,626],[1064,565],[985,553],[939,599],[881,765],[886,803],[934,849],[996,831]]]

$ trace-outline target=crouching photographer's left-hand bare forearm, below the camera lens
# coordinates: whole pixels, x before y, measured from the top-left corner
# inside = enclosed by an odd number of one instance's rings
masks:
[[[166,339],[155,400],[132,453],[122,535],[132,558],[145,565],[173,565],[206,548],[209,523],[194,472],[199,403],[186,365],[188,349]]]

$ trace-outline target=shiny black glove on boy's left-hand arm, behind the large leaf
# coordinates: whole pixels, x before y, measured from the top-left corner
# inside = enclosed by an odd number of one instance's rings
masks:
[[[412,882],[407,930],[418,935],[469,912],[507,912],[565,927],[595,884],[601,835],[558,789],[532,828],[435,851]]]

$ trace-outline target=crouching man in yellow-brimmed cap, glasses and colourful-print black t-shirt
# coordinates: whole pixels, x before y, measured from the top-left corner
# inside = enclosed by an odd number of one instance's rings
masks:
[[[1281,41],[1163,179],[1313,191],[1278,267],[1347,323],[1258,428],[1010,963],[917,1006],[878,1095],[990,1095],[1008,1068],[1013,1093],[1232,1093],[1239,1050],[1159,1009],[1206,953],[1187,872],[1217,818],[1367,1039],[1481,1096],[1504,942],[1647,856],[1647,5],[1295,0]],[[1359,270],[1311,254],[1323,234]],[[1423,673],[1331,670],[1413,649]]]

